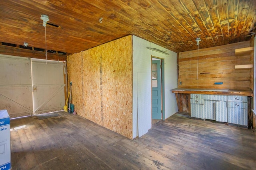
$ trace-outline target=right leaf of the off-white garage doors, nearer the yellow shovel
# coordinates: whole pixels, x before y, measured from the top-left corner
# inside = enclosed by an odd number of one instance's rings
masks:
[[[63,63],[32,59],[32,84],[34,113],[46,113],[63,109],[64,72]]]

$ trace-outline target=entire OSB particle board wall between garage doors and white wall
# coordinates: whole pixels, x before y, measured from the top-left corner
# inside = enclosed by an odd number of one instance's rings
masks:
[[[132,139],[132,35],[67,57],[78,115]]]

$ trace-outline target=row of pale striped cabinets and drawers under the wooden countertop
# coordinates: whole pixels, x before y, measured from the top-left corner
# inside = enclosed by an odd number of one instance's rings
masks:
[[[191,117],[248,127],[248,97],[211,94],[190,95]]]

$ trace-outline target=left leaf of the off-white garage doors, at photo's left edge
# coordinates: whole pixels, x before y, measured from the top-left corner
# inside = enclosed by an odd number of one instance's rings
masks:
[[[0,110],[11,118],[33,114],[30,58],[0,55]]]

